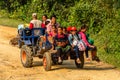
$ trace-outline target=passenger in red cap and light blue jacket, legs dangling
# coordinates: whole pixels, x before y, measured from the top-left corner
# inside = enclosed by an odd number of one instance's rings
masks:
[[[80,35],[77,33],[77,28],[76,27],[71,27],[71,34],[69,34],[69,43],[72,46],[73,50],[76,53],[76,62],[77,63],[81,63],[80,59],[79,59],[79,48],[77,46],[77,42],[80,40]]]

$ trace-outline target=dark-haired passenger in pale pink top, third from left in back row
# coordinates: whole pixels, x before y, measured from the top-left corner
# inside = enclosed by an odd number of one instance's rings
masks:
[[[58,28],[60,25],[56,22],[56,16],[55,15],[52,15],[51,16],[51,22],[48,24],[48,25],[46,25],[46,31],[47,31],[47,33],[48,34],[50,34],[50,32],[52,31],[52,26],[54,25],[54,26],[56,26],[56,28]]]

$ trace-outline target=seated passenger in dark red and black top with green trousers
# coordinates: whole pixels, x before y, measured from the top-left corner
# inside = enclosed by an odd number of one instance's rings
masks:
[[[58,34],[55,36],[55,42],[57,44],[56,49],[58,53],[58,62],[61,63],[62,54],[70,54],[71,47],[68,45],[68,37],[63,33],[63,28],[58,27]],[[69,58],[69,57],[68,57]]]

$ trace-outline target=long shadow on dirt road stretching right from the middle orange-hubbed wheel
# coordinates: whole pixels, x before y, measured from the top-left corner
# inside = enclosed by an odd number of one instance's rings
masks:
[[[71,69],[71,70],[112,70],[112,69],[116,69],[116,67],[111,66],[109,64],[101,64],[101,65],[97,65],[96,63],[85,63],[84,68],[83,69],[79,69],[76,67],[76,65],[74,63],[63,63],[62,65],[55,65],[56,67],[52,68],[52,71],[54,70],[60,70],[60,69]]]

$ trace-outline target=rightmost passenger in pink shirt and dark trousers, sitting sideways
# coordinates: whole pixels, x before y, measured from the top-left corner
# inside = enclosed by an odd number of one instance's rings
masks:
[[[87,45],[87,49],[85,52],[88,52],[88,50],[91,50],[91,54],[92,54],[92,60],[96,60],[97,62],[100,62],[100,59],[97,57],[97,47],[94,45],[91,45],[88,40],[87,40],[87,36],[85,34],[87,30],[87,26],[86,25],[82,25],[79,34],[81,35],[82,40],[85,42],[85,44]]]

